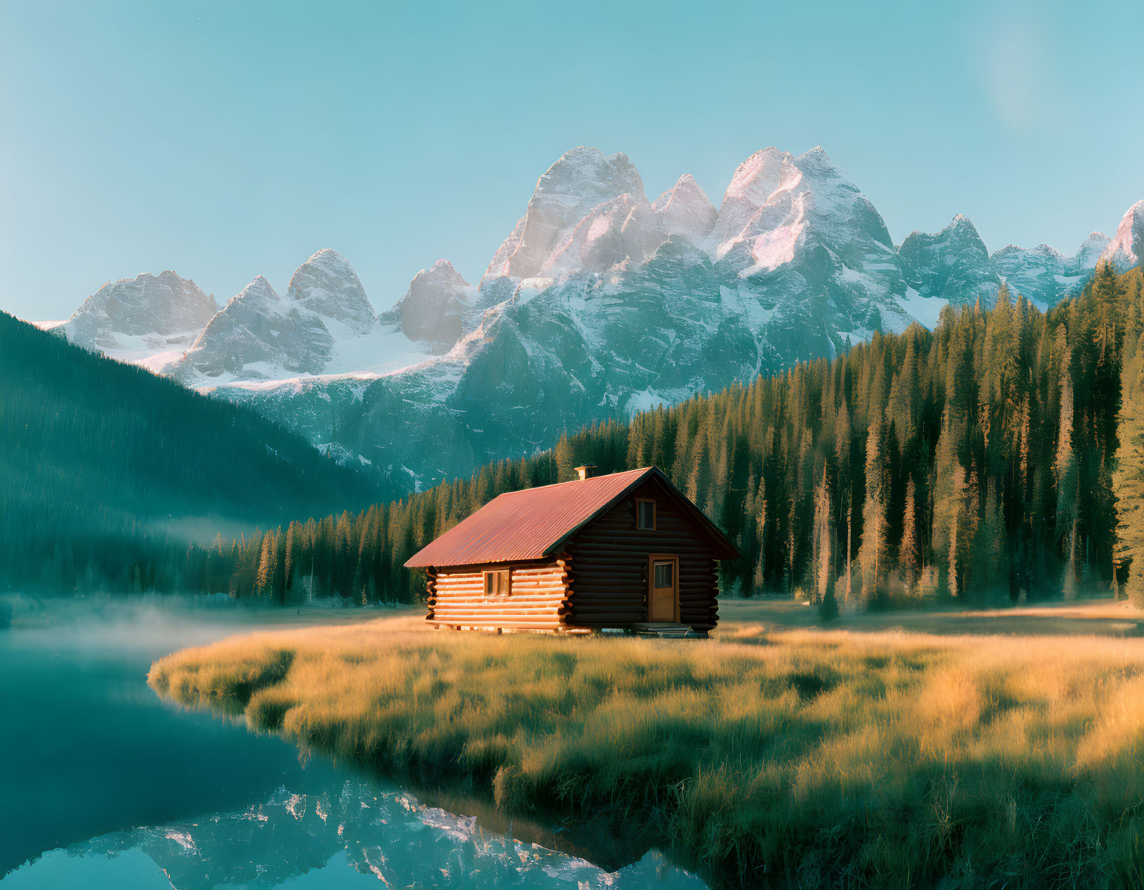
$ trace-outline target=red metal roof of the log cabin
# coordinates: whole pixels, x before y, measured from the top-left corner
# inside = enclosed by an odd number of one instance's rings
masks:
[[[712,533],[717,549],[730,556],[737,555],[722,532],[662,472],[654,467],[644,467],[506,492],[423,547],[405,565],[424,569],[550,556],[572,532],[650,476],[659,479],[697,515]]]

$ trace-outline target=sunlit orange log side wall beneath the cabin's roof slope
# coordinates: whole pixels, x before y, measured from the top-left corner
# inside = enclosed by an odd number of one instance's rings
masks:
[[[510,593],[486,596],[484,571],[509,569]],[[440,627],[561,630],[566,625],[569,562],[440,569],[429,581],[429,614]]]

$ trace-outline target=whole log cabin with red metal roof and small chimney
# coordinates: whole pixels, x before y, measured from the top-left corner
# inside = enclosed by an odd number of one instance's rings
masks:
[[[428,574],[429,614],[453,629],[705,635],[720,559],[739,554],[656,467],[507,492],[405,565]]]

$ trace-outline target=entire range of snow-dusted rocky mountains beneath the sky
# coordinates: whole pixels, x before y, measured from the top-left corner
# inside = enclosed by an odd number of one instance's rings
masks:
[[[421,486],[875,331],[934,326],[944,305],[992,303],[1002,283],[1055,303],[1101,256],[1136,262],[1144,202],[1114,241],[1094,233],[1068,259],[1044,246],[990,256],[963,216],[895,248],[820,148],[750,156],[717,210],[689,175],[649,201],[626,156],[578,148],[540,177],[478,287],[439,260],[378,315],[350,263],[324,249],[285,296],[260,277],[210,317],[189,294],[199,332],[174,350],[156,340],[161,360],[148,360]],[[159,329],[156,316],[172,315],[165,300],[137,300],[130,329]],[[85,309],[69,336],[85,329]],[[116,324],[100,329],[129,327]]]

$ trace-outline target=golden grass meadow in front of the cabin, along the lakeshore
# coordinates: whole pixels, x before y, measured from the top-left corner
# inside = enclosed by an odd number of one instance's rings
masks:
[[[716,884],[1144,887],[1144,613],[1123,605],[819,629],[732,601],[707,642],[420,614],[232,637],[149,682],[507,812],[646,827]]]

